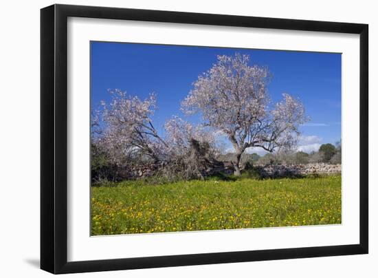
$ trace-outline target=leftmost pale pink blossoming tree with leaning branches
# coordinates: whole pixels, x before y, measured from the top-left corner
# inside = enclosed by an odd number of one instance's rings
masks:
[[[102,101],[102,122],[104,131],[98,143],[107,150],[117,164],[125,163],[135,153],[152,158],[155,162],[164,156],[166,142],[159,136],[151,116],[155,109],[155,94],[145,100],[129,96],[119,89],[113,95],[109,105]]]

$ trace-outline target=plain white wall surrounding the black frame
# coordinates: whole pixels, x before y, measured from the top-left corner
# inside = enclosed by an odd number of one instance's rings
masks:
[[[53,1],[3,1],[0,28],[0,256],[2,277],[47,277],[39,258],[39,9]],[[378,18],[375,1],[61,1],[113,6],[345,21],[370,25],[370,142],[378,140],[373,103],[378,102]],[[370,143],[370,254],[317,259],[87,273],[80,277],[376,277],[378,189],[373,171],[377,145]]]

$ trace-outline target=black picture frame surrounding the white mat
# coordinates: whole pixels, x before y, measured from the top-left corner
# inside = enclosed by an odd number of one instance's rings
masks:
[[[68,262],[68,17],[359,34],[359,244]],[[53,5],[41,9],[41,268],[43,270],[58,274],[366,253],[368,253],[368,25],[90,6]]]

